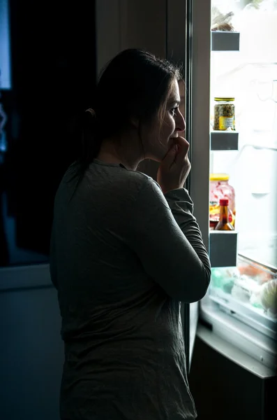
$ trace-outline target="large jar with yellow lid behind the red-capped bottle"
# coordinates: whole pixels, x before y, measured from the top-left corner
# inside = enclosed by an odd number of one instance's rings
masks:
[[[210,174],[209,225],[214,230],[219,221],[220,199],[229,200],[229,222],[234,227],[236,216],[234,187],[229,183],[229,174]]]

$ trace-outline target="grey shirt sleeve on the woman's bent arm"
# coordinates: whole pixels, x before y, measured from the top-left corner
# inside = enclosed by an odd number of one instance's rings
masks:
[[[148,179],[134,203],[128,244],[149,276],[170,297],[197,302],[207,292],[211,265],[184,188],[163,195]]]

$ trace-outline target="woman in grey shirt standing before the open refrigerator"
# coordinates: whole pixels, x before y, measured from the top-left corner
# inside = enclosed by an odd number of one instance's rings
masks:
[[[114,57],[57,191],[50,268],[65,345],[63,420],[197,415],[180,302],[205,295],[210,264],[183,188],[180,79],[149,52]],[[158,183],[136,172],[144,159],[160,162]]]

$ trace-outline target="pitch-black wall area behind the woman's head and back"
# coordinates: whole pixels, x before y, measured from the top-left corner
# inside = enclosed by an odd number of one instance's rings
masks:
[[[54,193],[73,160],[71,121],[93,103],[94,3],[10,0],[9,211],[17,246],[41,253],[48,253]]]

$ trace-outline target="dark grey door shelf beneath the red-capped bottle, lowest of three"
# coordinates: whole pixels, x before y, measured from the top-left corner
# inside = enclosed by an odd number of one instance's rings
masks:
[[[209,232],[211,267],[237,266],[237,232],[217,230]]]

